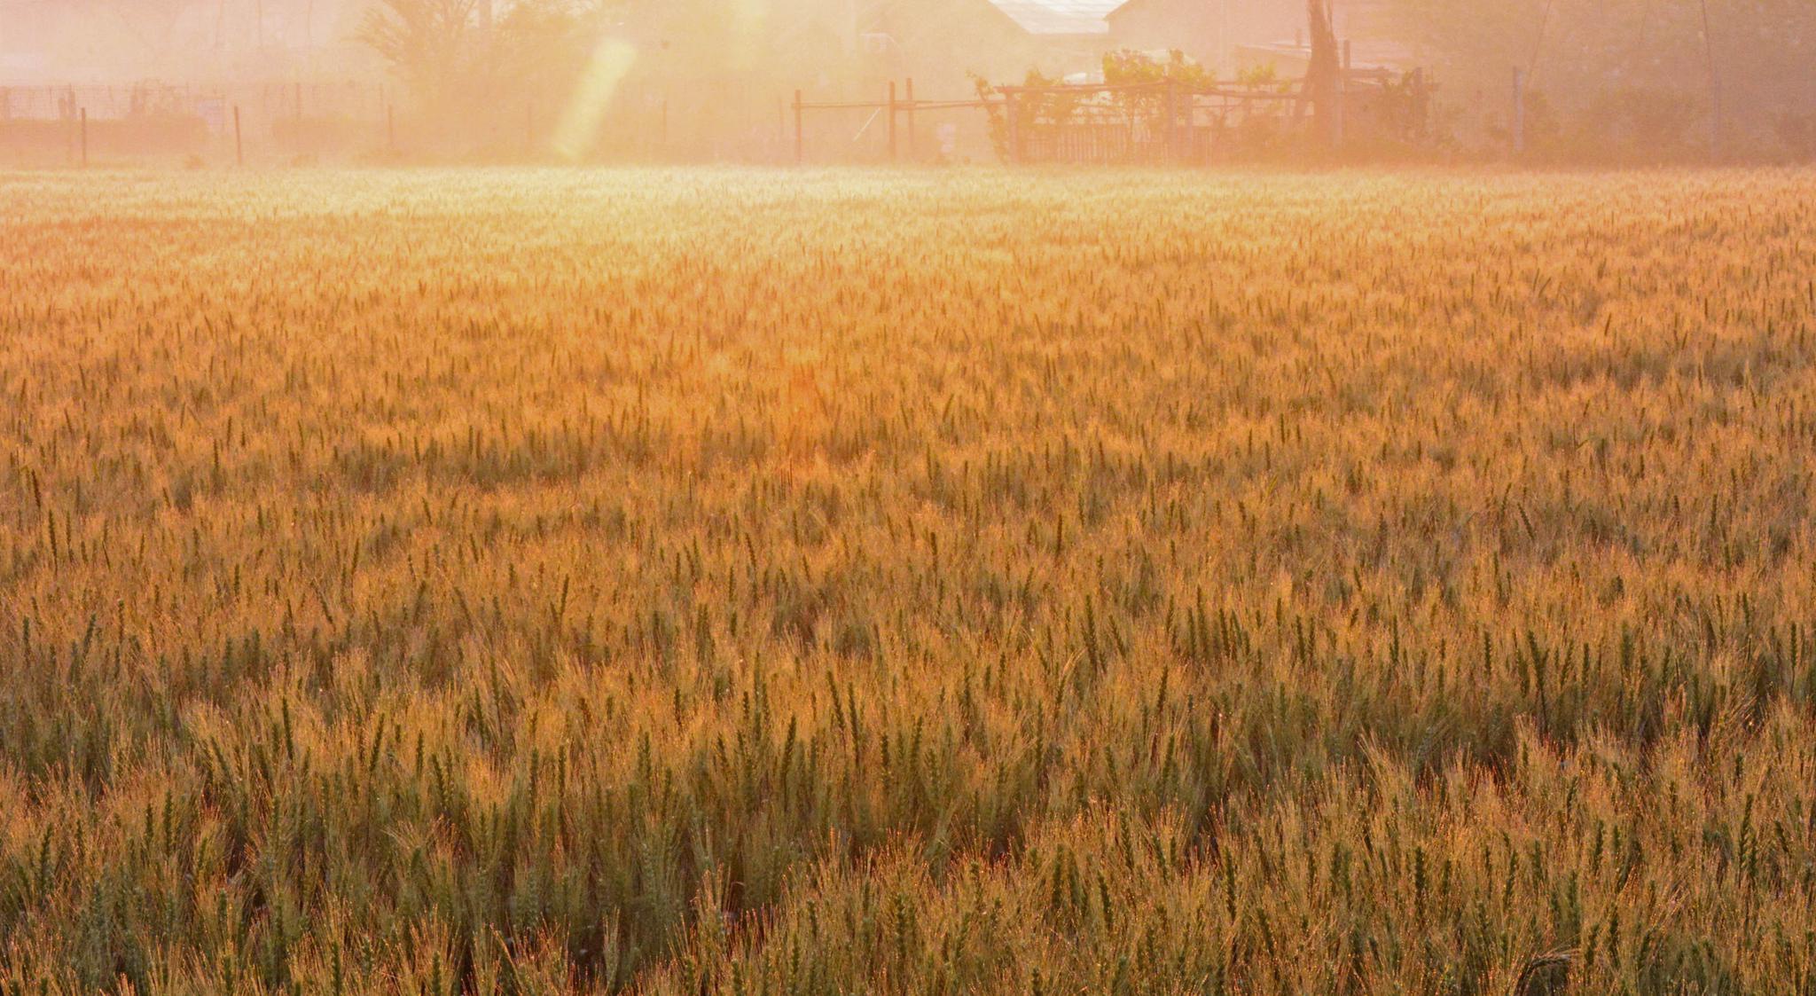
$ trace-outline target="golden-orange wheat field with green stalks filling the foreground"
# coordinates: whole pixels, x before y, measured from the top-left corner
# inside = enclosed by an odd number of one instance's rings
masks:
[[[1816,174],[0,176],[0,992],[1816,991]]]

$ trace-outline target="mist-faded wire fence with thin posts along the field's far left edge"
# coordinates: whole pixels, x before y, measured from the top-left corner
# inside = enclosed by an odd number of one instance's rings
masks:
[[[625,85],[558,147],[556,98],[492,95],[439,113],[374,82],[0,87],[0,164],[76,165],[189,158],[296,160],[788,162],[781,93],[723,82]]]

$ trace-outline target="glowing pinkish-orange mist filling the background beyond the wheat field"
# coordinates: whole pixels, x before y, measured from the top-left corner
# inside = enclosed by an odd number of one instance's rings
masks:
[[[1811,51],[1798,0],[4,0],[0,162],[67,164],[87,111],[114,162],[774,164],[797,98],[830,105],[808,158],[877,162],[913,82],[910,158],[977,164],[1010,158],[953,107],[981,84],[1173,78],[1220,87],[1188,111],[1217,160],[1304,164],[1335,96],[1253,111],[1318,71],[1349,91],[1338,158],[1807,162]]]

